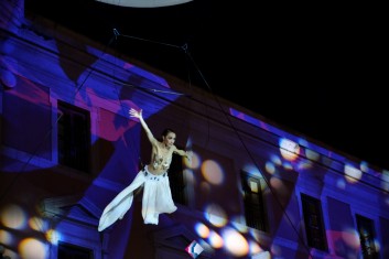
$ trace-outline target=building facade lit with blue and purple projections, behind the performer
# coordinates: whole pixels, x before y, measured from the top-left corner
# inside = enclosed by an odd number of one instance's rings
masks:
[[[0,244],[42,259],[389,258],[389,173],[99,45],[6,0],[0,31]],[[179,207],[143,224],[142,190],[99,233],[105,206],[148,163],[130,108],[174,128]],[[198,247],[197,247],[198,248]],[[194,253],[194,250],[192,255]]]

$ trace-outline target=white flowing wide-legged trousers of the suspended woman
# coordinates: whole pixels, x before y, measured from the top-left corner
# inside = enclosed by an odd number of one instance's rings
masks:
[[[161,213],[173,213],[177,209],[172,198],[168,173],[154,175],[148,172],[147,166],[144,166],[143,170],[139,171],[132,183],[106,206],[99,220],[99,231],[125,216],[132,205],[133,191],[141,185],[144,187],[142,198],[144,224],[158,225]]]

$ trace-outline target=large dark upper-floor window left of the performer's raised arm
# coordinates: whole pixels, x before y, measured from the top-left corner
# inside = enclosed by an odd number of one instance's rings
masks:
[[[58,162],[83,172],[89,172],[89,111],[60,101],[57,116]]]

